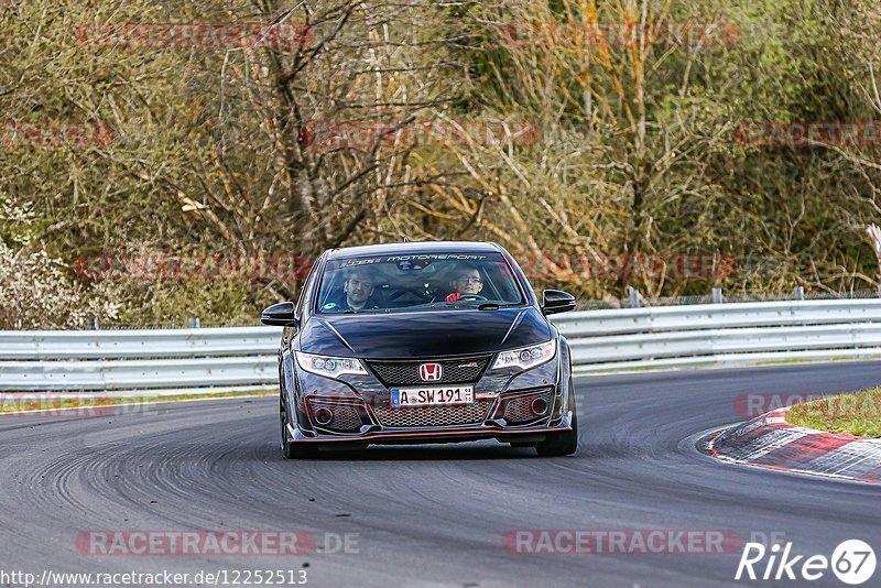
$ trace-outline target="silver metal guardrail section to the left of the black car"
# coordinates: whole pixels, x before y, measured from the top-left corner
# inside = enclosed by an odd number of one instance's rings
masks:
[[[0,390],[273,384],[280,327],[0,331]]]

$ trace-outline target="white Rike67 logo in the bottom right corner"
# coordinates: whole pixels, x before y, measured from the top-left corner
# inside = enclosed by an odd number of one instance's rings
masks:
[[[774,544],[770,548],[761,543],[747,543],[735,579],[814,581],[823,578],[831,568],[842,582],[859,586],[872,577],[877,564],[872,547],[860,540],[841,542],[831,557],[806,557],[791,553],[792,542],[786,542],[783,547]]]

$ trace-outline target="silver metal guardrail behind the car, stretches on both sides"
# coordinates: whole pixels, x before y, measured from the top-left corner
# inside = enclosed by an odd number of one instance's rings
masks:
[[[881,357],[881,300],[588,311],[553,317],[576,373]],[[275,385],[278,327],[0,331],[0,390]]]

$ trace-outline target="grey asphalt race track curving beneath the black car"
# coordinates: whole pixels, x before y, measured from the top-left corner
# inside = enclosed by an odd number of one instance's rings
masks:
[[[836,392],[881,363],[583,378],[569,458],[494,442],[371,447],[291,461],[278,400],[155,405],[145,413],[0,418],[3,570],[305,569],[308,586],[794,586],[735,581],[740,548],[707,554],[518,554],[514,530],[728,530],[829,557],[881,553],[881,487],[726,465],[695,448],[742,421],[739,394]],[[307,555],[90,555],[95,530],[312,533]],[[329,534],[329,535],[328,535]],[[349,552],[334,537],[349,534]],[[304,567],[307,566],[307,567]],[[881,570],[866,586],[878,586]],[[845,586],[830,571],[812,586]]]

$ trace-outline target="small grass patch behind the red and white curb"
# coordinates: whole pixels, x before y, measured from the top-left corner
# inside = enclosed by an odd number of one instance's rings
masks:
[[[881,389],[796,404],[786,421],[829,433],[881,438]]]

